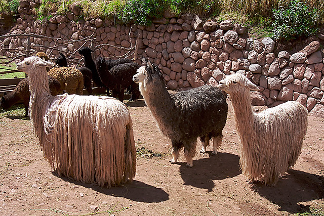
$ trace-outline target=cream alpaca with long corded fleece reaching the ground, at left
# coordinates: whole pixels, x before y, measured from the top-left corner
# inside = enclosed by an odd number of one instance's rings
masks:
[[[52,65],[38,57],[17,64],[29,77],[30,119],[51,167],[101,187],[132,180],[136,149],[127,106],[110,97],[51,96],[46,67]]]

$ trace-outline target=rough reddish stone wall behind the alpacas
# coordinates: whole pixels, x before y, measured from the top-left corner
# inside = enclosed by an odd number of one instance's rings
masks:
[[[75,52],[83,46],[79,39],[91,36],[98,44],[108,44],[96,55],[117,58],[137,45],[137,59],[149,57],[163,71],[167,87],[186,90],[204,84],[217,85],[226,74],[243,73],[261,91],[252,93],[253,105],[275,106],[296,100],[311,114],[324,117],[324,64],[320,42],[313,41],[297,53],[274,53],[271,38],[249,38],[247,29],[230,21],[203,22],[198,16],[184,14],[175,17],[168,12],[148,27],[114,24],[111,20],[78,20],[79,9],[72,5],[67,16],[36,20],[33,8],[37,2],[20,2],[21,18],[10,33],[35,33],[59,40],[59,50]],[[136,43],[137,41],[137,43]],[[1,42],[1,41],[0,41]],[[55,46],[51,38],[31,38],[31,48],[37,45]],[[90,42],[86,44],[89,46]],[[12,49],[12,50],[5,50]],[[118,48],[127,48],[126,50]],[[18,49],[18,50],[13,50]],[[16,56],[26,49],[26,38],[8,37],[0,45],[0,55]],[[50,50],[45,50],[49,54]],[[54,51],[52,59],[58,56]],[[130,56],[134,58],[134,52]]]

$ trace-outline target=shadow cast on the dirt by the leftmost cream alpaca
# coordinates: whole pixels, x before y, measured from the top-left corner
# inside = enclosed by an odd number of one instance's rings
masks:
[[[124,197],[133,201],[147,203],[169,200],[169,194],[166,193],[163,189],[156,188],[135,180],[133,180],[131,183],[126,182],[123,185],[117,185],[111,188],[101,188],[95,184],[86,184],[70,180],[66,177],[60,177],[57,175],[56,172],[52,172],[52,174],[66,182],[70,182],[72,184],[79,185],[85,188],[91,188],[92,190],[97,191],[98,193],[102,193],[109,196]]]

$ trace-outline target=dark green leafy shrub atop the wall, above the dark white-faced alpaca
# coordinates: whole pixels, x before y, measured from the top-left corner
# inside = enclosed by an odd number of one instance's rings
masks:
[[[161,17],[164,13],[163,0],[130,0],[127,1],[120,19],[125,23],[134,22],[138,25],[148,26],[152,18]]]

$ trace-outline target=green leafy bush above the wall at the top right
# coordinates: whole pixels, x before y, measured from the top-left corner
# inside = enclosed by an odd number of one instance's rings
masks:
[[[292,0],[288,6],[273,10],[273,38],[292,40],[315,34],[319,14],[300,0]]]

